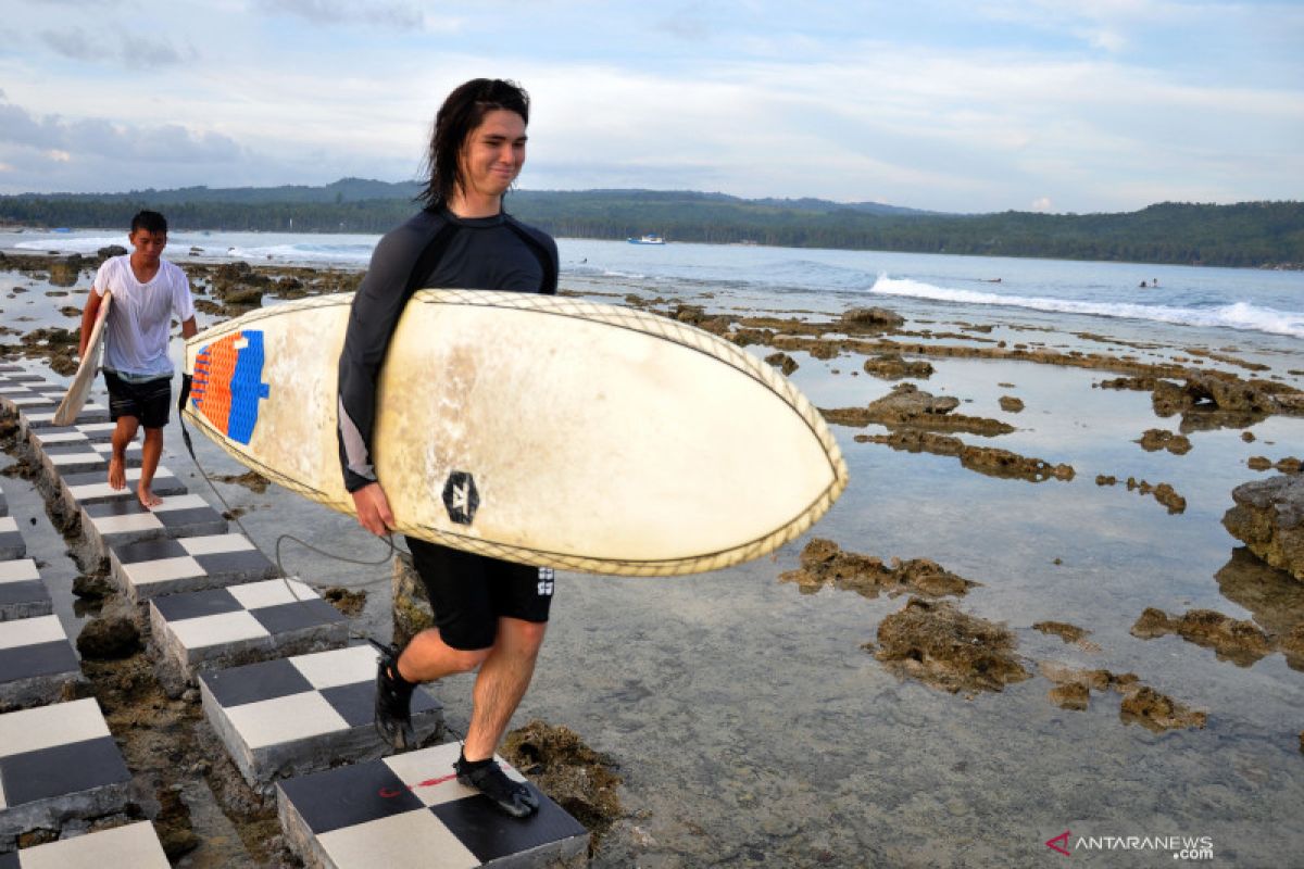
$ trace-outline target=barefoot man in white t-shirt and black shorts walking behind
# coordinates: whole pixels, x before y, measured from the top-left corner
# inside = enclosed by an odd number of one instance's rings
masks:
[[[141,449],[141,482],[136,489],[141,504],[163,503],[150,483],[163,455],[163,426],[172,408],[172,361],[168,358],[168,331],[172,317],[181,322],[181,337],[190,337],[194,302],[185,272],[163,259],[167,246],[167,220],[158,211],[141,211],[132,218],[128,236],[134,251],[104,261],[95,275],[86,310],[82,311],[80,356],[86,354],[91,328],[104,293],[113,293],[104,323],[104,383],[108,386],[108,412],[113,430],[113,455],[108,460],[108,485],[126,487],[126,446],[145,427]]]

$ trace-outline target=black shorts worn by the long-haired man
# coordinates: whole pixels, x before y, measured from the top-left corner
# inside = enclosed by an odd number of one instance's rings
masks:
[[[463,552],[407,538],[412,565],[434,610],[434,627],[445,644],[463,651],[488,649],[498,636],[498,619],[548,621],[553,603],[553,571]]]

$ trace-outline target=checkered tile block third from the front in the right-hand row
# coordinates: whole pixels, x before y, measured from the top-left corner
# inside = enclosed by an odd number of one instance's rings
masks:
[[[295,578],[168,594],[150,601],[155,663],[173,693],[198,671],[342,649],[348,621]]]

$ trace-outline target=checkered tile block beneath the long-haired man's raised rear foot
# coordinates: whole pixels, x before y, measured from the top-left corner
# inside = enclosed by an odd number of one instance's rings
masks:
[[[245,780],[274,778],[378,757],[373,727],[377,654],[351,646],[200,674],[203,714]],[[443,728],[439,704],[412,696],[419,740]]]

